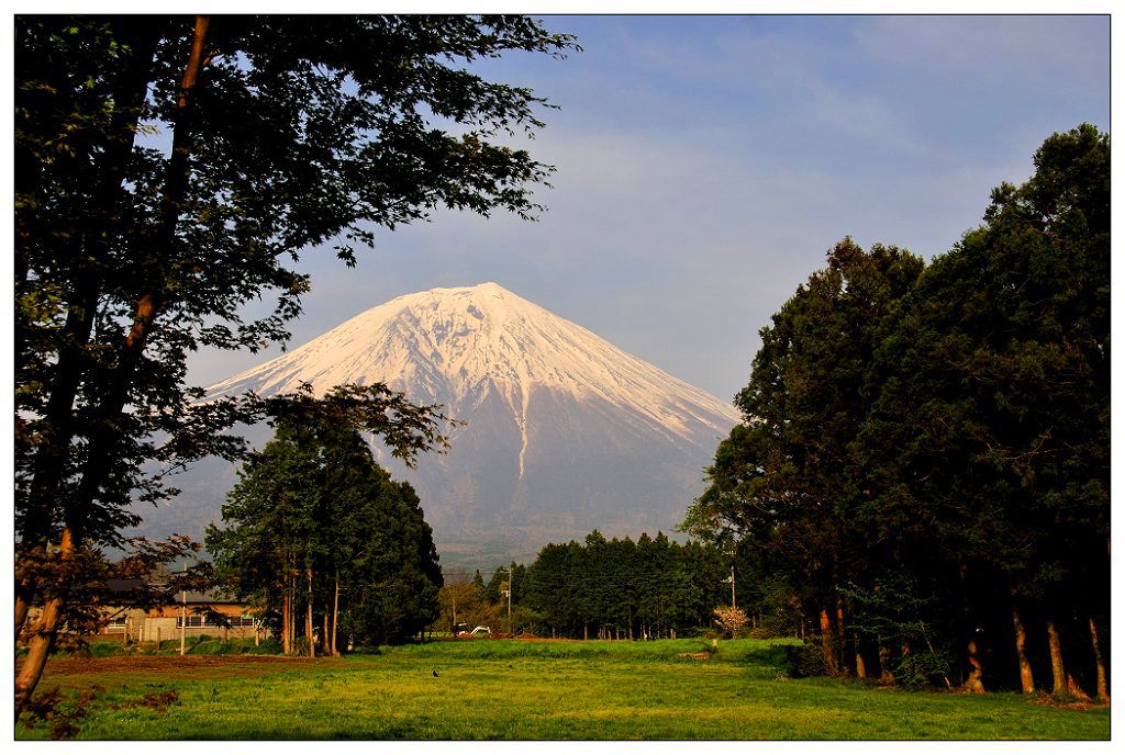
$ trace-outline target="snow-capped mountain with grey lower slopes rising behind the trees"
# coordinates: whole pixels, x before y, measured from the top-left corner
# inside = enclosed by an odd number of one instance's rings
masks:
[[[496,283],[399,297],[208,393],[303,382],[318,394],[382,382],[466,422],[416,470],[377,448],[417,489],[443,555],[534,553],[595,527],[669,530],[739,421],[729,403]],[[226,490],[215,492],[210,518]]]

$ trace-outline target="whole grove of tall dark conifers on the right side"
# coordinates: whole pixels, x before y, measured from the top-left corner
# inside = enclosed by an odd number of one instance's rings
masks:
[[[685,528],[816,617],[829,673],[1108,695],[1108,136],[1035,169],[928,265],[845,239],[760,331]]]

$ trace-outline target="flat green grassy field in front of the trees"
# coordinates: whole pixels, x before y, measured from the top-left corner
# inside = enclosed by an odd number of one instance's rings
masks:
[[[789,679],[783,642],[458,640],[345,658],[53,660],[79,738],[1104,739],[1105,707]],[[94,686],[97,685],[97,688]],[[174,694],[173,694],[174,691]],[[64,702],[62,710],[68,710]],[[71,729],[73,733],[73,729]],[[50,722],[19,738],[50,736]]]

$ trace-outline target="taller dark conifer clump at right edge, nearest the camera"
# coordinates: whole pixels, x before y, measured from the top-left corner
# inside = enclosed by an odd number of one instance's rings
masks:
[[[1025,647],[1041,625],[1053,691],[1066,695],[1060,635],[1092,667],[1108,610],[1108,136],[1056,134],[1035,165],[1024,185],[992,192],[984,225],[904,300],[863,446],[886,483],[884,527],[915,522],[898,537],[912,533],[916,556],[968,575],[970,652],[984,649],[973,635],[991,607],[1007,604],[1009,630],[991,634],[1012,633],[1014,647],[1000,657],[1024,691],[1046,681]]]

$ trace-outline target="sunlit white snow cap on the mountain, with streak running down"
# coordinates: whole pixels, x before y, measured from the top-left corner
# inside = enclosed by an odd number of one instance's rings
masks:
[[[603,400],[669,439],[701,429],[724,435],[738,421],[729,403],[490,281],[398,297],[209,392],[270,395],[300,382],[317,393],[385,382],[453,412],[496,392],[521,429],[532,392],[542,389]]]

